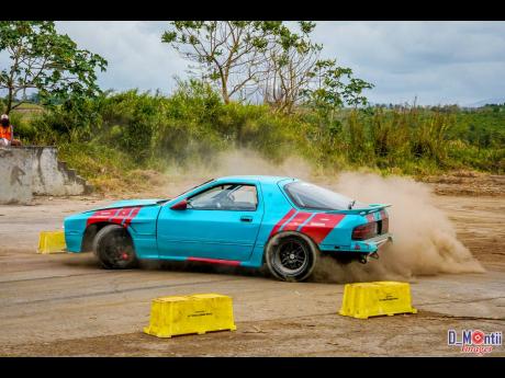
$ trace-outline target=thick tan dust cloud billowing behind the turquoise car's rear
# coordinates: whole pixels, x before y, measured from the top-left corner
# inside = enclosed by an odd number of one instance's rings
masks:
[[[343,266],[333,259],[325,259],[316,279],[363,282],[484,272],[458,240],[448,216],[435,205],[428,185],[401,176],[344,172],[326,186],[364,203],[391,204],[388,211],[394,242],[382,250],[379,260],[366,265]]]

